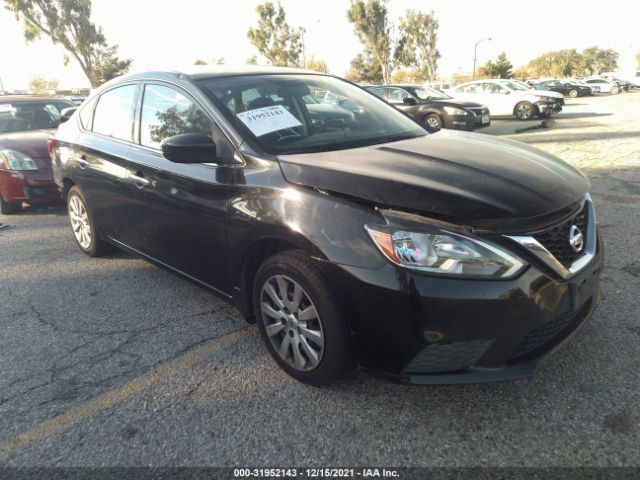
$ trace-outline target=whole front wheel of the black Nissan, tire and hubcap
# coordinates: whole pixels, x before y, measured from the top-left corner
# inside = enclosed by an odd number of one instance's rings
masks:
[[[260,266],[253,306],[269,353],[293,378],[325,385],[353,369],[342,308],[327,279],[303,252],[277,253]]]

